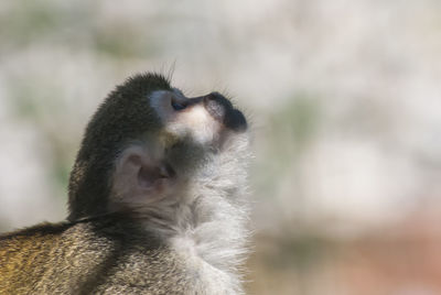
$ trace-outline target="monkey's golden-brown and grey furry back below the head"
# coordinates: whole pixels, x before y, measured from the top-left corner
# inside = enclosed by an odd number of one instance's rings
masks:
[[[0,237],[0,294],[197,293],[176,255],[120,216],[41,225]]]

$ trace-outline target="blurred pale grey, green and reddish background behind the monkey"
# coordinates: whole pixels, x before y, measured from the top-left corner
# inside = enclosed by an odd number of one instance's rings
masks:
[[[441,294],[439,0],[1,1],[0,231],[66,216],[98,103],[138,72],[254,127],[248,294]]]

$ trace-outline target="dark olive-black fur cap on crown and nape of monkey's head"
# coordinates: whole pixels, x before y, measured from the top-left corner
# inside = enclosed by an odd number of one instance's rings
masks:
[[[110,92],[98,108],[71,173],[68,220],[106,214],[110,174],[123,144],[161,128],[148,100],[154,90],[171,90],[169,80],[159,74],[137,75]]]

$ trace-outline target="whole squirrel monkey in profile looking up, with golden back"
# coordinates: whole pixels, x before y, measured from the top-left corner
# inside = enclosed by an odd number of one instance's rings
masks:
[[[128,78],[86,127],[66,220],[0,236],[0,294],[243,294],[249,133],[219,92]]]

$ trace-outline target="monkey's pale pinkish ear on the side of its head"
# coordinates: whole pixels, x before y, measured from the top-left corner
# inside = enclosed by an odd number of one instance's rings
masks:
[[[150,203],[159,197],[170,177],[166,166],[141,146],[123,151],[116,163],[111,195],[117,203]]]

